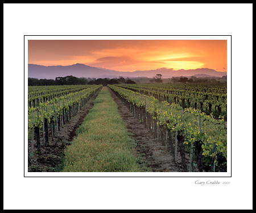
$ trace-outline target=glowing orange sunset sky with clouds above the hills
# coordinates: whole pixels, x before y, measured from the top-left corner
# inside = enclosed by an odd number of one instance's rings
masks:
[[[209,68],[226,72],[226,40],[28,40],[28,64],[118,71]]]

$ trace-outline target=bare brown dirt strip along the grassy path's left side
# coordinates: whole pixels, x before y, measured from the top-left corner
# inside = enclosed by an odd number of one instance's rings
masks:
[[[31,165],[28,166],[28,172],[59,172],[57,169],[61,166],[61,160],[64,157],[65,148],[71,144],[73,137],[76,135],[76,129],[82,124],[85,116],[93,107],[93,101],[96,99],[99,91],[85,104],[84,107],[73,118],[68,120],[60,131],[55,133],[52,140],[51,131],[49,130],[49,146],[41,147],[42,154],[36,153],[36,141],[34,141],[34,153],[31,158]],[[41,143],[43,136],[40,137]],[[31,143],[30,151],[31,151]]]

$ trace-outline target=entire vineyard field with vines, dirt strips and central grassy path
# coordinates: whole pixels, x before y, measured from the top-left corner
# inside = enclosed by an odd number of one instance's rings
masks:
[[[28,87],[28,172],[226,172],[225,83]]]

